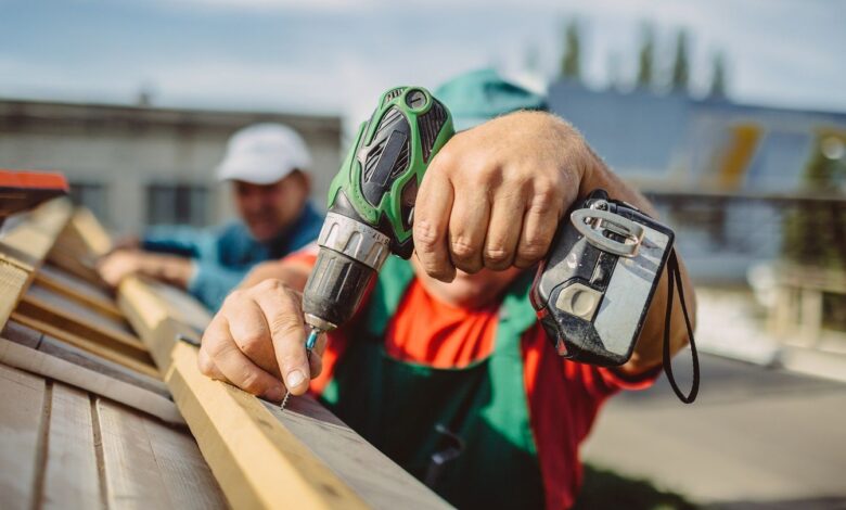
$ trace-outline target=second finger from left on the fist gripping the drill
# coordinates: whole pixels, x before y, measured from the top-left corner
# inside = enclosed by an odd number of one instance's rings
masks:
[[[490,219],[486,190],[459,192],[449,218],[449,255],[456,268],[466,272],[482,269],[482,248]]]

